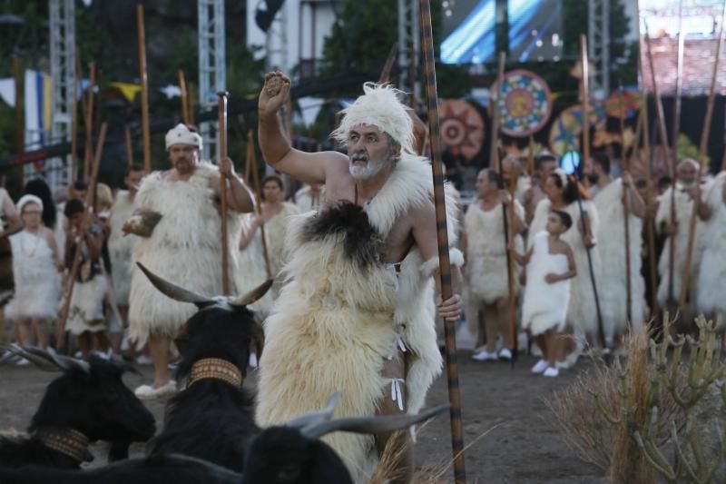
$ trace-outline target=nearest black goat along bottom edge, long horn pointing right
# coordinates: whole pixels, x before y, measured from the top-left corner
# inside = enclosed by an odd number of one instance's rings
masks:
[[[334,402],[333,402],[334,403]],[[264,430],[250,444],[243,474],[200,459],[178,455],[131,459],[85,472],[25,468],[3,469],[4,484],[133,484],[162,481],[174,484],[348,484],[348,469],[333,449],[319,440],[332,431],[378,433],[405,429],[448,409],[448,405],[418,415],[329,420],[333,407],[306,415],[282,427]]]

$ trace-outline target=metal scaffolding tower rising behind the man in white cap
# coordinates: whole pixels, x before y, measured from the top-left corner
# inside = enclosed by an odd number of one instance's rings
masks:
[[[224,57],[224,0],[198,0],[199,10],[199,100],[201,109],[217,105],[217,93],[227,85]],[[205,121],[200,125],[204,141],[203,158],[217,155],[218,123]]]

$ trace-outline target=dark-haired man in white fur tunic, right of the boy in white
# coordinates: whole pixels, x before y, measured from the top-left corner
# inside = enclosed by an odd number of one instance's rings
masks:
[[[643,325],[647,318],[645,282],[641,273],[641,249],[643,246],[643,216],[645,203],[633,185],[630,173],[613,180],[610,175],[610,159],[605,153],[594,153],[590,163],[585,163],[585,174],[594,182],[594,204],[600,218],[595,234],[598,250],[603,260],[600,282],[600,298],[603,311],[605,338],[612,341],[623,334],[628,322],[627,281],[625,278],[625,251],[630,252],[631,308],[630,322],[635,327]],[[625,211],[628,207],[630,247],[625,247]]]

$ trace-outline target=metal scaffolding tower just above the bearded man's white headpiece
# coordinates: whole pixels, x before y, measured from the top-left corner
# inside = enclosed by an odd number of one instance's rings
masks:
[[[398,89],[421,98],[418,65],[421,35],[418,26],[418,0],[398,0]]]

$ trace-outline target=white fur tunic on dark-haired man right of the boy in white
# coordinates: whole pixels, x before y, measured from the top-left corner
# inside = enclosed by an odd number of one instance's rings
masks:
[[[618,179],[601,189],[594,198],[600,230],[597,246],[603,260],[603,270],[598,279],[598,291],[603,310],[603,325],[607,336],[622,333],[627,321],[627,281],[625,279],[625,222],[623,210],[623,181]],[[643,245],[643,220],[630,213],[630,281],[633,301],[631,321],[640,326],[647,317],[645,282],[641,274],[641,248]]]

